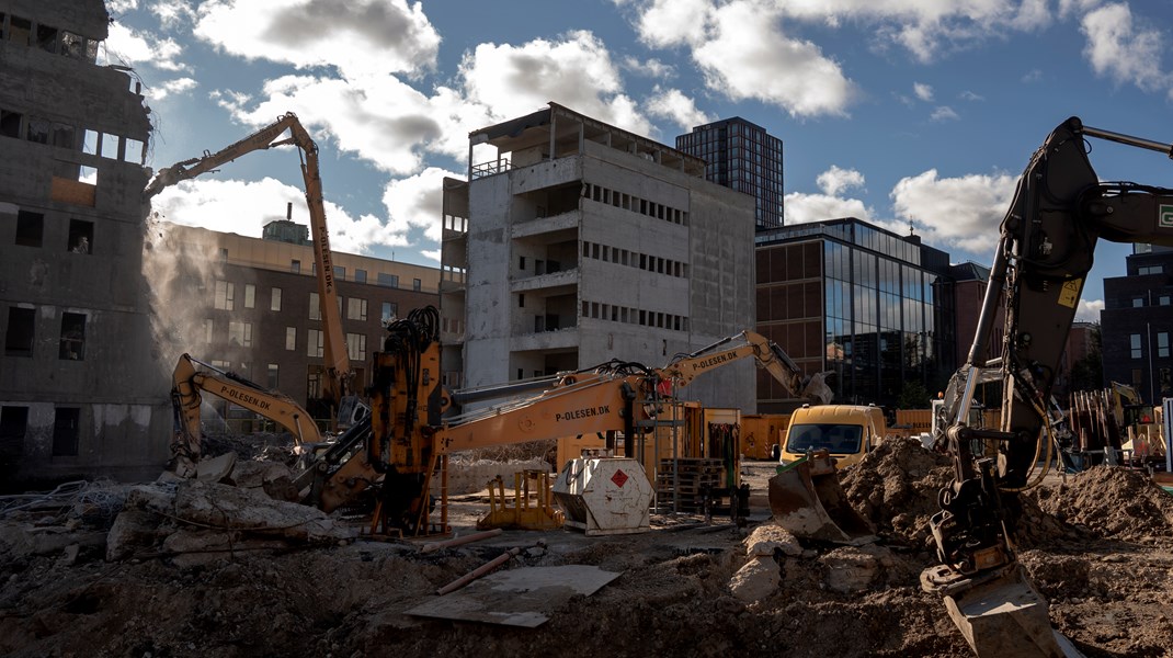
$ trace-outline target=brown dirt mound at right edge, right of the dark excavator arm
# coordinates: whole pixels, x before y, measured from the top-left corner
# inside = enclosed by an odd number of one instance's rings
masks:
[[[1044,513],[1101,537],[1173,536],[1173,497],[1141,472],[1098,466],[1035,497]]]

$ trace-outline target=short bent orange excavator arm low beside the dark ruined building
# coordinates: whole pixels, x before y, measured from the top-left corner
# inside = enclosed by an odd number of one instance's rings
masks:
[[[197,364],[206,369],[197,369]],[[293,435],[298,446],[321,440],[310,413],[290,398],[184,354],[171,373],[171,403],[175,412],[171,455],[175,462],[172,468],[181,476],[194,475],[195,464],[199,461],[201,393],[228,400],[276,422]]]

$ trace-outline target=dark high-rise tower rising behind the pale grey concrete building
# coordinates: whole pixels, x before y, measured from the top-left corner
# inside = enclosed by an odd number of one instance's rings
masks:
[[[752,196],[759,231],[784,223],[782,141],[739,116],[679,135],[676,148],[705,161],[705,178]]]

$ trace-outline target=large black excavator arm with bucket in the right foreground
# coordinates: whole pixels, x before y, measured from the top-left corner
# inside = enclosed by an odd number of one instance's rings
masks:
[[[949,419],[937,445],[954,462],[931,520],[941,564],[921,583],[941,595],[981,658],[1077,656],[1052,631],[1045,599],[1015,555],[1018,494],[1037,486],[1055,449],[1047,401],[1074,319],[1096,243],[1173,246],[1173,189],[1100,182],[1087,157],[1089,140],[1105,140],[1173,157],[1173,144],[1084,126],[1059,124],[1028,164],[990,270],[990,281],[964,366],[945,394]],[[1001,355],[989,358],[998,305],[1004,307]],[[1003,386],[997,429],[970,427],[975,391],[992,371]],[[997,445],[996,456],[971,446]]]

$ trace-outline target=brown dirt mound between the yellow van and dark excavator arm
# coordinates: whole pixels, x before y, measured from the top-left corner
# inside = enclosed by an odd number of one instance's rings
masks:
[[[923,548],[937,493],[952,479],[949,459],[917,439],[889,437],[840,476],[847,500],[888,538]]]

